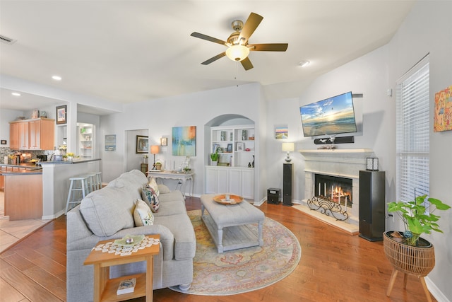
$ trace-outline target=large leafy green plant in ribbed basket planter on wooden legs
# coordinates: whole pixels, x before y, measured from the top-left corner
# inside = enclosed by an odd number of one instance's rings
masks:
[[[427,195],[422,195],[410,202],[388,203],[388,212],[396,212],[400,216],[405,225],[405,231],[388,231],[383,234],[384,252],[393,266],[386,296],[391,294],[397,273],[403,272],[404,287],[406,287],[406,274],[413,274],[420,279],[427,301],[432,301],[424,277],[434,268],[434,247],[432,243],[420,236],[432,231],[442,233],[437,223],[440,217],[433,213],[436,210],[444,211],[451,207],[439,199],[428,198],[426,201],[426,198]]]

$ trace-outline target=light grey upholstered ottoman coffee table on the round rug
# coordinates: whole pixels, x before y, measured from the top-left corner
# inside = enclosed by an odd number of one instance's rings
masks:
[[[218,252],[263,245],[263,212],[244,200],[239,204],[219,204],[215,194],[201,195],[201,219],[206,224]],[[205,214],[205,210],[208,214]]]

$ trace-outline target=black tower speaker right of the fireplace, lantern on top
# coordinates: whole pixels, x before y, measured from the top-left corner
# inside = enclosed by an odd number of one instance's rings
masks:
[[[385,204],[384,171],[359,171],[359,237],[383,240]]]

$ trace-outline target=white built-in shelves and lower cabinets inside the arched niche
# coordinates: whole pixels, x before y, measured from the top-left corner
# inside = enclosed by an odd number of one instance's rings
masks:
[[[254,199],[254,125],[210,128],[210,152],[219,149],[218,165],[206,165],[206,194],[232,193]],[[251,166],[251,167],[250,167]]]

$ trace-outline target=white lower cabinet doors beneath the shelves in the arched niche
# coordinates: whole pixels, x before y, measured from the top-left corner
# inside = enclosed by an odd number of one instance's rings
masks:
[[[206,166],[206,194],[232,193],[254,199],[254,169]]]

